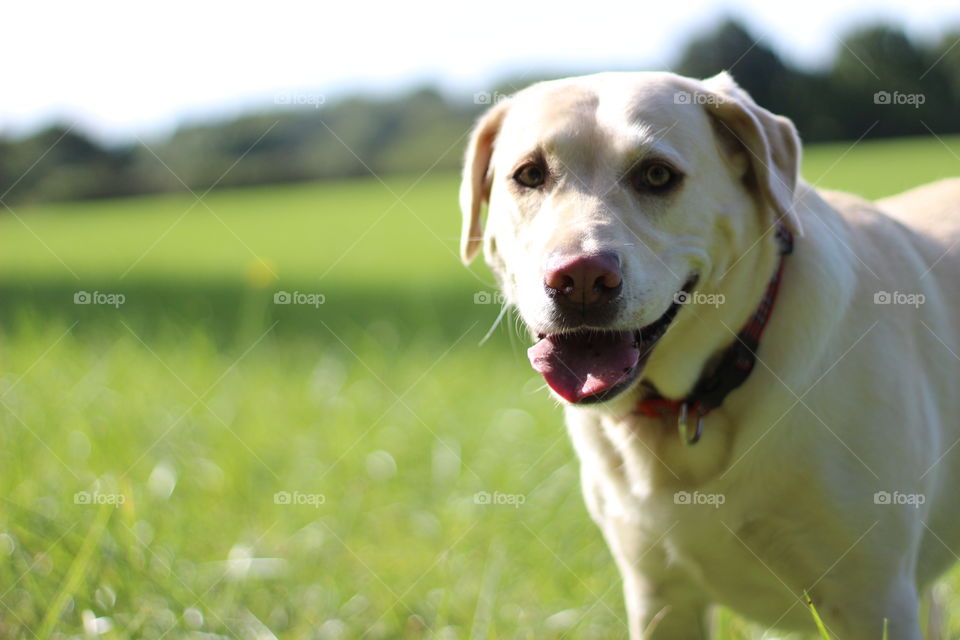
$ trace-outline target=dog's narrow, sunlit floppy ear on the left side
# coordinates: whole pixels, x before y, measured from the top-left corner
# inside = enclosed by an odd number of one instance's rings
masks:
[[[470,134],[460,182],[460,210],[463,214],[460,258],[464,264],[470,264],[480,250],[483,236],[480,209],[484,202],[490,200],[490,157],[503,117],[507,114],[508,103],[509,100],[502,100],[487,110]]]

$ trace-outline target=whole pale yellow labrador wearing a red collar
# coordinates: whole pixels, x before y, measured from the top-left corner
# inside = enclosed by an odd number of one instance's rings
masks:
[[[463,259],[536,340],[632,638],[713,603],[812,631],[809,595],[918,640],[960,553],[960,180],[867,202],[799,164],[726,74],[536,84],[470,141]]]

